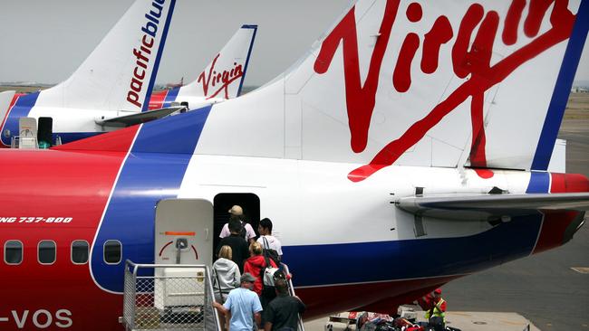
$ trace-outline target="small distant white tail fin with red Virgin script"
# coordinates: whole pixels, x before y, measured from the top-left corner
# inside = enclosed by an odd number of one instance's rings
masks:
[[[198,78],[179,88],[176,100],[181,101],[182,97],[237,98],[246,78],[256,30],[257,25],[243,25],[237,30]]]

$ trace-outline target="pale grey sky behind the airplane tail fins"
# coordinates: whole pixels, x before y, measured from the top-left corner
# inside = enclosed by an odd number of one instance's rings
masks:
[[[0,81],[67,79],[132,2],[5,2],[0,11]],[[196,79],[237,28],[257,24],[245,85],[263,85],[303,56],[349,5],[349,0],[177,0],[157,81]],[[589,80],[587,44],[575,80]]]

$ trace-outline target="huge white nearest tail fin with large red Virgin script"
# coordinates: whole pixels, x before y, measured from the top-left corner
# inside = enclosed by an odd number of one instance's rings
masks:
[[[354,181],[388,165],[530,169],[541,167],[537,157],[547,166],[588,9],[566,0],[358,1],[280,79],[215,106],[198,152],[363,164],[351,169]],[[252,137],[226,128],[240,134],[220,146],[217,120],[248,123]]]

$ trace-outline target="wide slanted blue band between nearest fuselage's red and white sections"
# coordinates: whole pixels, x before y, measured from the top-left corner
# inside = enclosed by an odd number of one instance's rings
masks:
[[[153,263],[156,203],[177,196],[209,111],[190,111],[140,128],[93,246],[92,275],[102,288],[122,291],[126,259]],[[108,240],[121,241],[121,263],[109,265],[102,259]]]

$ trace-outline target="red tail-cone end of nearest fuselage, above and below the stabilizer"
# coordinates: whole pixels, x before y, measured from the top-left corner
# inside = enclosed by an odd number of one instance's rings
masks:
[[[550,193],[589,192],[589,180],[578,174],[550,174]],[[548,251],[565,243],[565,232],[579,216],[575,211],[543,211],[542,231],[536,242],[534,254]]]

